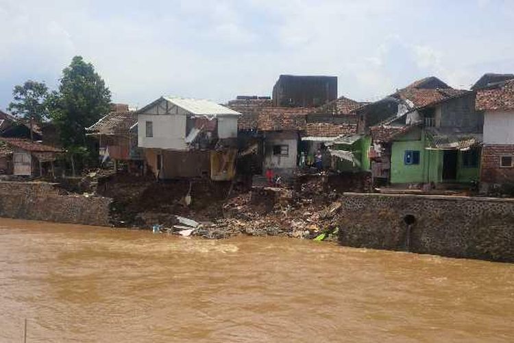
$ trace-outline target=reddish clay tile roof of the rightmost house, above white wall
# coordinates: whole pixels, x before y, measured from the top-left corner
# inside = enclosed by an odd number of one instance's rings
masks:
[[[514,110],[514,80],[476,93],[477,110]]]

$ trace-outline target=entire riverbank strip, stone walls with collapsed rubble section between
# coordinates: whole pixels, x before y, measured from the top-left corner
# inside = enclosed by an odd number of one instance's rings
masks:
[[[77,187],[0,182],[0,217],[153,228],[206,239],[319,237],[343,246],[514,262],[513,199],[366,194],[365,182],[338,184],[344,178],[323,174],[282,187],[120,174],[88,178]],[[349,186],[356,193],[346,193]]]

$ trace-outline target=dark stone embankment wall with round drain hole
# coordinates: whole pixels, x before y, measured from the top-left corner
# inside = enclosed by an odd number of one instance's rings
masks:
[[[514,262],[514,199],[344,193],[339,241]]]

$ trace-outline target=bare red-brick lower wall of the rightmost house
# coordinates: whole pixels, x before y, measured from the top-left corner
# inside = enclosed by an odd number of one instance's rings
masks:
[[[500,167],[501,156],[514,157],[514,145],[485,145],[482,147],[481,182],[501,184],[514,183],[514,167]]]

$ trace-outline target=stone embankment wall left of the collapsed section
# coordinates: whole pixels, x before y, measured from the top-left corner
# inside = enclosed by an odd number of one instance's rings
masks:
[[[47,182],[0,182],[0,217],[110,226],[111,201],[64,194]]]

